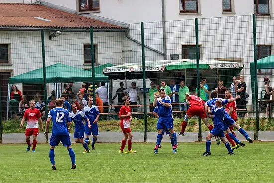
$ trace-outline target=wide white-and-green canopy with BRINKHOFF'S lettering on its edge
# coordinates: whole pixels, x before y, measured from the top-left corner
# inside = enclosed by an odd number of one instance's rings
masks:
[[[205,59],[199,61],[200,69],[217,69],[218,77],[219,74],[227,73],[235,75],[236,73],[239,73],[243,67],[244,65],[238,62]],[[184,69],[185,72],[186,69],[197,69],[196,60],[180,59],[145,62],[146,78],[156,78],[157,73],[170,72],[171,70],[179,69]],[[110,76],[111,79],[140,79],[142,78],[142,62],[125,63],[122,65],[106,67],[103,69],[103,73]]]

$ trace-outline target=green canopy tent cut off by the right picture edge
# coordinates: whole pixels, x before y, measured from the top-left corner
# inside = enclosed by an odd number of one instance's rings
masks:
[[[251,90],[252,90],[252,106],[255,109],[255,64],[250,62]],[[274,55],[257,60],[257,69],[273,69]],[[257,72],[257,71],[256,71]],[[256,88],[258,90],[258,88]]]

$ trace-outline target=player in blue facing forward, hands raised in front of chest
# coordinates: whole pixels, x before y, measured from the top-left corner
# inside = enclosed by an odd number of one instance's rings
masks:
[[[177,143],[177,136],[176,133],[173,129],[173,118],[172,118],[172,112],[171,112],[171,100],[169,96],[166,96],[164,89],[160,89],[159,91],[159,96],[154,93],[154,101],[153,101],[153,106],[158,107],[158,115],[159,115],[159,120],[157,123],[157,129],[158,129],[158,135],[157,135],[157,142],[154,150],[158,149],[161,147],[161,141],[163,138],[163,129],[168,128],[169,132],[171,133],[173,140],[174,140],[174,145],[172,149],[176,149],[178,146]]]

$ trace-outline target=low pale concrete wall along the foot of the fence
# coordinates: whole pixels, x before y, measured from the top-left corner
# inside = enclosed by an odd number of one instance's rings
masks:
[[[244,136],[242,136],[238,131],[235,131],[237,138],[240,141],[246,141]],[[247,131],[248,135],[254,140],[254,131]],[[205,137],[208,132],[202,132],[202,140],[206,141]],[[50,139],[51,134],[48,134],[48,139]],[[123,138],[122,132],[99,132],[97,142],[101,143],[120,143]],[[74,143],[74,135],[70,134],[71,142]],[[147,133],[147,142],[155,143],[157,139],[156,132]],[[178,142],[196,142],[198,141],[198,132],[186,132],[185,136],[177,135]],[[260,141],[274,141],[274,131],[260,131],[258,133],[258,140]],[[37,136],[38,143],[45,143],[45,136],[40,133]],[[144,142],[144,132],[133,132],[133,142]],[[212,141],[215,141],[213,138]],[[48,141],[49,142],[49,141]],[[164,135],[162,142],[170,142],[168,135]],[[24,133],[14,133],[14,134],[3,134],[4,144],[18,144],[25,143]]]

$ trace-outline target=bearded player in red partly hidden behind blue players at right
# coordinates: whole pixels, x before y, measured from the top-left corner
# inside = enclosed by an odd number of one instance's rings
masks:
[[[231,95],[231,93],[232,92],[230,90],[226,90],[226,92],[225,92],[225,99],[231,99],[231,98],[233,98],[232,95]],[[238,118],[237,112],[236,112],[236,102],[233,101],[233,102],[227,103],[225,110],[226,110],[227,114],[236,122],[237,118]],[[236,134],[233,131],[233,126],[230,126],[229,130],[236,137]],[[225,134],[226,134],[227,140],[232,145],[232,150],[235,150],[235,149],[237,149],[237,148],[240,147],[239,144],[237,144],[237,145],[235,144],[235,142],[229,137],[229,135],[227,133],[225,133]]]

